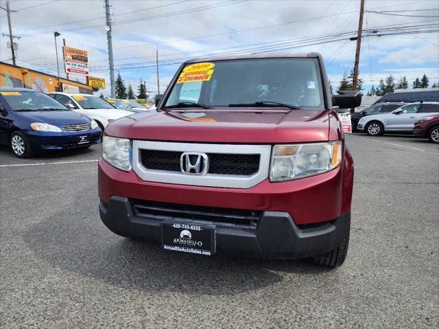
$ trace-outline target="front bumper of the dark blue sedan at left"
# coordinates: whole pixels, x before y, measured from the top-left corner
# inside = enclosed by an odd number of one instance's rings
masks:
[[[43,133],[39,131],[30,131],[26,134],[33,150],[63,150],[69,148],[81,148],[97,144],[101,141],[101,131],[95,128],[90,131],[78,133]],[[86,143],[80,143],[80,137],[86,137]]]

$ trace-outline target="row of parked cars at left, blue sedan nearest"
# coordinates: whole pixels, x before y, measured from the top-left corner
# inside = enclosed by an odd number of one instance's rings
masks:
[[[132,113],[94,95],[0,88],[0,144],[21,158],[45,150],[88,148],[102,141],[109,122]]]

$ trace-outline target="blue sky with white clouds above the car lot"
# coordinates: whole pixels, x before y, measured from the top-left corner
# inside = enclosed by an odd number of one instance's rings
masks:
[[[287,48],[283,52],[320,52],[335,88],[343,73],[349,73],[353,67],[356,42],[348,38],[355,36],[358,27],[359,0],[126,0],[110,4],[115,23],[112,33],[116,73],[119,71],[134,89],[140,79],[146,80],[152,94],[157,90],[156,47],[161,63],[161,90],[178,63],[209,54],[283,48]],[[58,31],[59,41],[65,38],[68,46],[88,50],[91,75],[106,78],[110,85],[103,0],[15,0],[11,1],[11,8],[17,10],[12,13],[13,32],[22,37],[18,65],[56,73],[53,32]],[[438,1],[366,0],[366,10],[363,28],[376,29],[377,34],[384,33],[385,26],[403,28],[436,23],[438,30]],[[4,12],[0,14],[0,32],[8,33]],[[430,27],[434,29],[433,25]],[[338,37],[342,32],[351,33]],[[310,38],[340,40],[312,45]],[[0,40],[0,60],[10,63],[8,40]],[[439,82],[438,49],[438,32],[363,38],[359,69],[364,89],[376,86],[390,73],[396,80],[407,76],[410,86],[423,73],[431,84]],[[131,66],[140,68],[126,69]],[[81,76],[74,78],[83,80]],[[108,93],[109,88],[104,90],[104,94]]]

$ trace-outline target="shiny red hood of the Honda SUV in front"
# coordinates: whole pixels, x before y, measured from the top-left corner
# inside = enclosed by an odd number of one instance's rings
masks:
[[[329,112],[227,109],[136,113],[109,124],[106,135],[154,141],[294,143],[327,141]]]

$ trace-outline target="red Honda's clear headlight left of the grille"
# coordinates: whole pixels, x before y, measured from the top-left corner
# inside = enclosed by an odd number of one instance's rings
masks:
[[[120,170],[131,170],[131,141],[126,138],[104,136],[102,139],[102,157]]]

